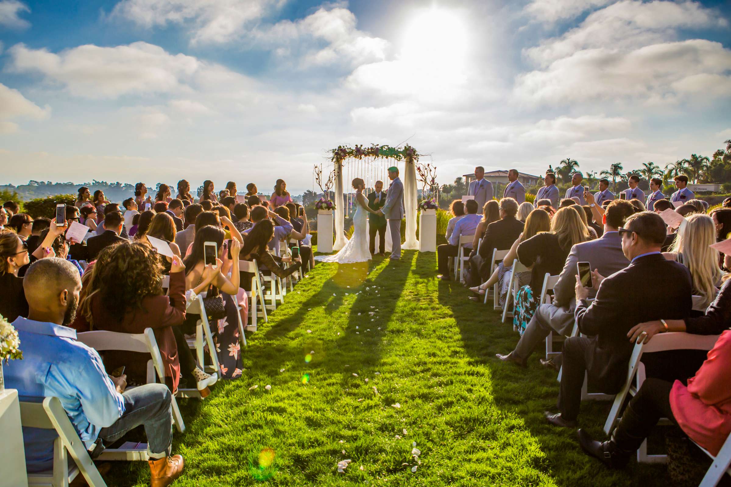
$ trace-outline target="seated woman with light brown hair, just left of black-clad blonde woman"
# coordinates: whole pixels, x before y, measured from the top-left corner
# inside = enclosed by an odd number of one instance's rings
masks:
[[[552,207],[549,206],[546,208],[551,209]],[[508,286],[510,283],[510,272],[512,272],[512,263],[513,261],[515,261],[516,258],[518,258],[518,245],[520,245],[520,243],[524,240],[527,240],[531,237],[534,237],[534,235],[545,231],[550,231],[550,216],[548,215],[547,210],[543,210],[542,208],[536,208],[531,212],[530,215],[528,215],[528,218],[526,218],[525,229],[523,229],[523,232],[518,234],[518,237],[516,237],[515,241],[512,242],[507,255],[502,261],[500,261],[497,266],[495,266],[495,270],[493,271],[493,274],[490,276],[490,278],[482,283],[479,287],[469,288],[469,290],[478,294],[485,294],[485,292],[487,292],[487,290],[491,288],[491,286],[497,284],[499,304],[500,307],[504,307],[505,300],[507,299]],[[529,284],[531,282],[531,272],[518,272],[518,275],[515,277],[515,279],[518,281],[518,287],[521,288],[523,287],[523,285]]]

